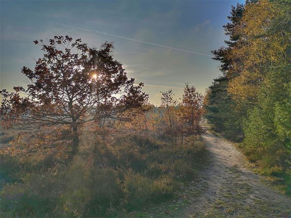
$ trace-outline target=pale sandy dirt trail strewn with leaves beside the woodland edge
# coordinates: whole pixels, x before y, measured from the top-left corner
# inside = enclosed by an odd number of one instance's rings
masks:
[[[203,138],[211,156],[203,174],[207,186],[183,216],[291,217],[291,198],[262,183],[240,151],[210,132]]]

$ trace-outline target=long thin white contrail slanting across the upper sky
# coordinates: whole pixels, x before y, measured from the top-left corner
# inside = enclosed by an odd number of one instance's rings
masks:
[[[68,27],[68,28],[74,28],[74,29],[84,30],[84,31],[88,31],[88,32],[96,32],[96,33],[101,33],[101,34],[104,34],[104,35],[109,35],[109,36],[113,36],[113,37],[117,37],[117,38],[128,39],[128,40],[131,40],[131,41],[134,41],[134,42],[138,42],[138,43],[144,43],[144,44],[159,46],[159,47],[163,47],[163,48],[169,48],[169,49],[173,49],[173,50],[177,50],[177,51],[184,51],[184,52],[188,52],[188,53],[200,54],[200,55],[204,55],[204,56],[214,57],[214,56],[209,55],[209,54],[202,54],[202,53],[198,53],[198,52],[194,52],[194,51],[189,51],[189,50],[184,50],[184,49],[179,49],[179,48],[174,48],[174,47],[169,47],[169,46],[163,46],[163,45],[159,45],[159,44],[156,44],[156,43],[144,42],[144,41],[140,41],[140,40],[137,40],[137,39],[134,39],[134,38],[123,37],[123,36],[120,36],[120,35],[114,35],[114,34],[105,33],[105,32],[101,32],[101,31],[97,31],[97,30],[89,30],[89,29],[84,29],[84,28],[81,28],[81,27],[68,26],[68,25],[60,24],[60,23],[56,23],[56,24],[60,25],[60,26]]]

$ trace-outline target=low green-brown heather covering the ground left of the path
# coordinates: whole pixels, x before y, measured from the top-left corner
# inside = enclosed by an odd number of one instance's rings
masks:
[[[120,216],[171,197],[177,180],[193,179],[204,148],[194,139],[174,147],[138,136],[118,142],[95,145],[92,155],[66,165],[53,156],[34,162],[5,156],[0,175],[14,184],[4,184],[0,209],[21,217]]]

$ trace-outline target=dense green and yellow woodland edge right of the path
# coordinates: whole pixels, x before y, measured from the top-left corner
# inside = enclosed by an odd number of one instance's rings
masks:
[[[207,91],[206,117],[216,132],[243,142],[262,173],[283,177],[291,193],[291,2],[232,6],[226,47],[212,51],[223,75]]]

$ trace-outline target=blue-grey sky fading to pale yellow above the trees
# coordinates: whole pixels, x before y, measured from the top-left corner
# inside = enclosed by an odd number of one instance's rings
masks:
[[[114,42],[114,57],[129,77],[143,82],[149,100],[160,104],[161,91],[177,98],[185,83],[205,93],[221,75],[210,56],[135,42],[71,26],[139,41],[211,55],[224,45],[231,5],[243,1],[0,1],[0,89],[26,86],[23,66],[34,68],[43,55],[33,41],[54,35],[81,38],[91,47]],[[67,26],[63,26],[64,24]]]

